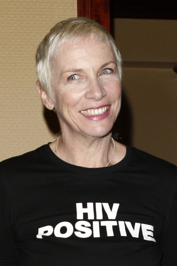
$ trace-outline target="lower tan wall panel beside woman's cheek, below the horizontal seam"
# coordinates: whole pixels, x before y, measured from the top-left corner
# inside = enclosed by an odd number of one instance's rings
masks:
[[[172,69],[128,67],[123,72],[132,145],[177,164],[176,73]]]

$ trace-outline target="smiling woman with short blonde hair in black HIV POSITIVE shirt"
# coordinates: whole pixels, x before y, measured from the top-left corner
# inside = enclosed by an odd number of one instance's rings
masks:
[[[36,66],[61,135],[1,163],[0,265],[177,265],[176,167],[111,137],[122,74],[112,37],[88,18],[59,22]]]

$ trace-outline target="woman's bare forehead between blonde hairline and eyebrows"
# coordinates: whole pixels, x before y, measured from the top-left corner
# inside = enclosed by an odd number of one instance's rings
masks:
[[[114,54],[108,41],[95,40],[94,36],[69,40],[57,53],[55,67],[64,72],[66,69],[96,67],[114,60]]]

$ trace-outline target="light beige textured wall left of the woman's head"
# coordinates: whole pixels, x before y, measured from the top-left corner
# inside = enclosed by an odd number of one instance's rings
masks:
[[[36,91],[35,51],[58,21],[77,17],[77,0],[1,0],[0,160],[55,138]]]

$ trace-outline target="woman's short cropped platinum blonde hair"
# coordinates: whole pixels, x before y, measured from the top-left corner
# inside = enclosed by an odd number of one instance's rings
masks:
[[[58,22],[50,32],[44,37],[37,48],[36,52],[36,72],[37,79],[41,88],[52,97],[52,62],[57,56],[58,49],[61,45],[73,39],[75,42],[78,38],[89,37],[94,35],[97,41],[107,41],[113,50],[114,58],[119,72],[122,77],[122,60],[114,39],[110,33],[96,21],[87,17],[74,17]]]

